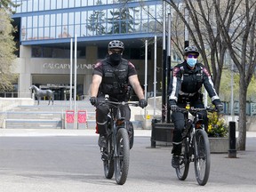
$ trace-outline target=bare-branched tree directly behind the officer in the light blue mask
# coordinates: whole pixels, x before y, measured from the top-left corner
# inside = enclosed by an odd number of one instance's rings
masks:
[[[177,14],[184,24],[184,28],[188,28],[189,38],[192,40],[189,44],[195,44],[201,53],[201,58],[206,68],[208,68],[213,76],[213,84],[217,92],[220,90],[220,78],[225,60],[225,52],[227,45],[220,36],[220,26],[217,25],[217,12],[212,9],[212,0],[194,1],[184,0],[177,4],[175,0],[167,0],[174,10],[173,16]],[[188,11],[188,20],[184,14],[185,9]],[[220,13],[226,12],[223,9]],[[228,28],[228,26],[227,26]],[[179,40],[180,33],[173,33],[175,38],[172,41]],[[180,43],[176,43],[180,45]],[[180,49],[180,52],[183,49]]]

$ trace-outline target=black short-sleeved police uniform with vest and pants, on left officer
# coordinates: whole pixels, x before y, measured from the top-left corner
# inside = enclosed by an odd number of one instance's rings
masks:
[[[129,76],[137,75],[137,71],[133,64],[125,59],[121,59],[118,65],[111,65],[109,58],[101,60],[95,65],[92,76],[102,76],[100,89],[97,95],[97,100],[105,100],[105,94],[109,95],[109,100],[127,101],[129,100]],[[105,134],[108,122],[108,105],[96,106],[96,122],[97,132]],[[129,106],[121,108],[121,115],[125,120],[131,118],[131,109]]]

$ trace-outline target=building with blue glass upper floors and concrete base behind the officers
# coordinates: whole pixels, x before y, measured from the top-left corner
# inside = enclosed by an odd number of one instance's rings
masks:
[[[13,0],[12,2],[20,4],[15,10],[16,13],[12,15],[13,23],[18,27],[15,40],[19,44],[19,52],[18,59],[15,60],[14,72],[19,74],[17,82],[19,97],[30,97],[31,92],[28,88],[31,84],[36,84],[42,89],[53,89],[56,100],[68,100],[70,42],[72,39],[74,45],[75,36],[77,36],[76,97],[78,99],[88,94],[93,66],[98,60],[105,58],[108,42],[113,39],[124,42],[124,58],[131,60],[135,65],[140,83],[144,85],[145,40],[148,39],[150,42],[154,40],[154,36],[160,38],[162,36],[162,26],[159,25],[162,22],[162,1],[130,0],[125,3],[124,0]],[[162,44],[158,46],[157,66],[160,68]],[[155,57],[153,49],[154,44],[149,44],[148,92],[153,91]]]

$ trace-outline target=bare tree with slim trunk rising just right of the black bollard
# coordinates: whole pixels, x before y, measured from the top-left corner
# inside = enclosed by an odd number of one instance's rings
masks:
[[[256,66],[256,2],[254,0],[225,1],[226,14],[220,14],[220,1],[213,0],[217,22],[230,57],[239,71],[239,124],[236,147],[245,150],[246,96]],[[228,22],[228,23],[227,23]],[[228,27],[227,27],[228,25]]]

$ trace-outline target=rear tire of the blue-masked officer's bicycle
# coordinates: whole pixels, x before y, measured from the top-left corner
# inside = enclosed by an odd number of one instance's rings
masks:
[[[188,143],[186,140],[182,141],[182,148],[180,154],[180,165],[175,169],[179,180],[186,180],[188,177],[189,160],[188,160]]]

